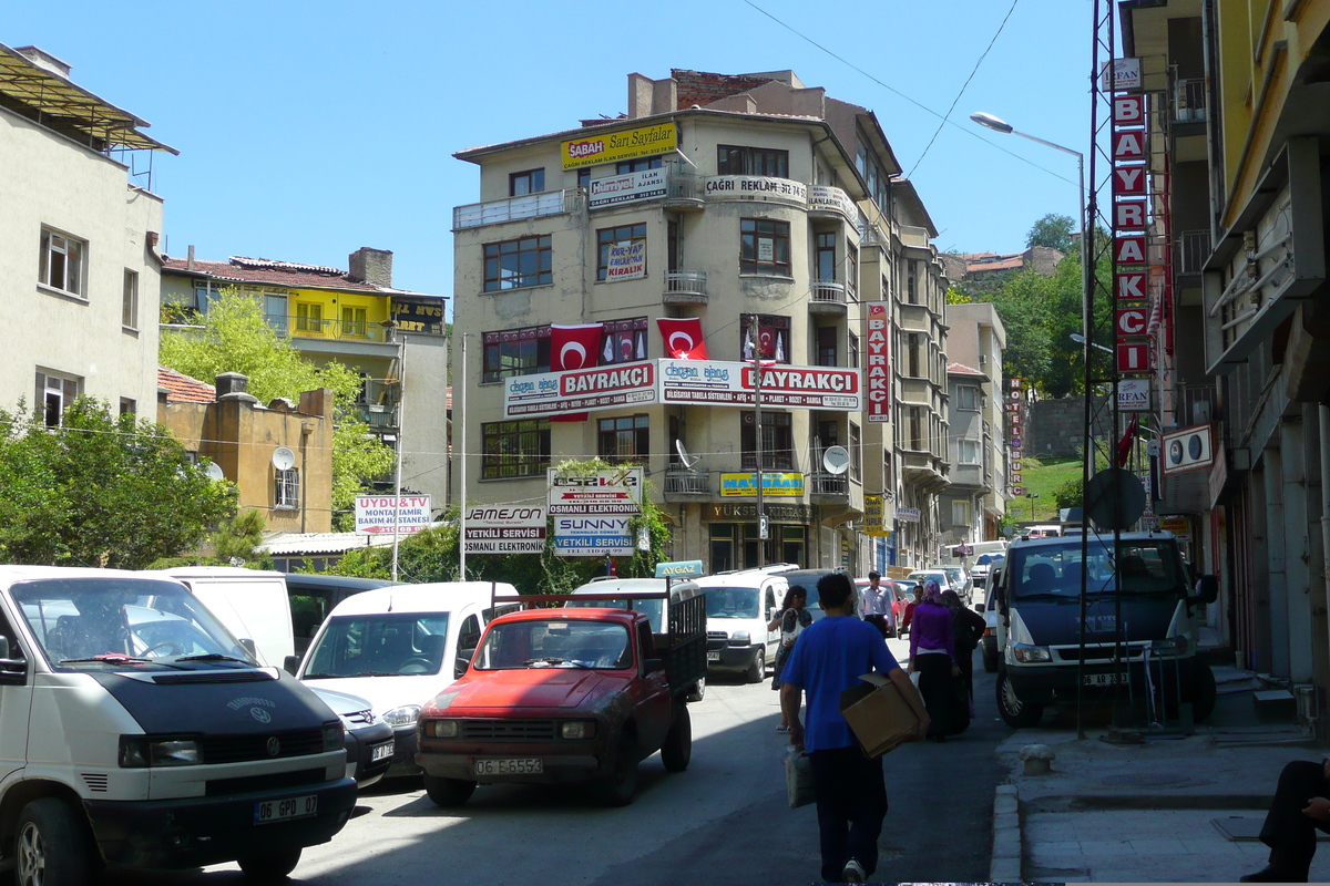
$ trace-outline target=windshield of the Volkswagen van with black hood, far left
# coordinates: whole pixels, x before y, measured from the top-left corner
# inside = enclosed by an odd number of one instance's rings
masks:
[[[20,582],[15,603],[59,671],[257,667],[184,586],[146,578]],[[205,656],[205,662],[198,662]]]

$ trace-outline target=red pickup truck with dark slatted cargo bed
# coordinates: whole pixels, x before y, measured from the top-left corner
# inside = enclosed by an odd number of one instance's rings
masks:
[[[669,599],[634,599],[646,596]],[[656,751],[670,772],[686,769],[686,699],[706,673],[705,598],[669,610],[662,634],[624,608],[535,608],[491,622],[466,675],[420,711],[416,762],[430,798],[454,806],[477,784],[592,782],[626,805],[637,764]]]

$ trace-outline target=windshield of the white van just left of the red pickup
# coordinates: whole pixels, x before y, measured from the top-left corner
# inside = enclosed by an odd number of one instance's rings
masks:
[[[340,615],[309,654],[306,679],[438,673],[447,612]]]

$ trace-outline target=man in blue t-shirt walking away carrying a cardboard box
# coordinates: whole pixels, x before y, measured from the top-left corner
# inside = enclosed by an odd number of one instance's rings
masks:
[[[887,814],[882,757],[870,760],[841,716],[841,692],[868,671],[884,673],[919,717],[916,735],[928,731],[923,699],[887,651],[882,634],[851,615],[854,586],[842,573],[818,580],[826,618],[805,628],[781,671],[781,711],[790,744],[813,764],[813,788],[822,834],[822,879],[862,883],[878,867],[878,834]],[[809,693],[807,724],[799,723],[802,693]]]

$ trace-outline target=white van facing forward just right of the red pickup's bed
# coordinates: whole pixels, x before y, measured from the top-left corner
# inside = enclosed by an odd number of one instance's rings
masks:
[[[779,573],[794,569],[786,563],[697,579],[706,595],[708,671],[738,671],[749,683],[766,679],[781,646],[781,626],[773,631],[767,624],[790,590]]]

